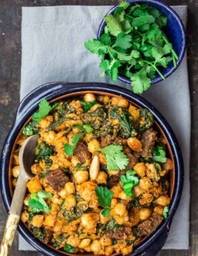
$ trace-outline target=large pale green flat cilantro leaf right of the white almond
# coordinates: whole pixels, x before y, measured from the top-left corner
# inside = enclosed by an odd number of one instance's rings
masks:
[[[122,152],[122,146],[109,145],[104,148],[97,148],[105,154],[108,170],[123,170],[129,163],[128,157]]]

